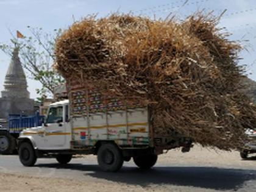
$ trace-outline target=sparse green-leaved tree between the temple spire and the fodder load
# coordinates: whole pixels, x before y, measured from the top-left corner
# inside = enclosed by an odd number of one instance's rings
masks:
[[[62,32],[61,29],[55,29],[53,32],[43,32],[42,28],[32,28],[27,26],[30,36],[24,38],[15,38],[12,35],[10,43],[0,43],[0,49],[5,54],[12,55],[13,48],[20,48],[21,63],[26,69],[27,76],[37,80],[42,87],[37,88],[38,101],[54,94],[54,87],[64,82],[60,74],[52,68],[54,63],[54,44]]]

